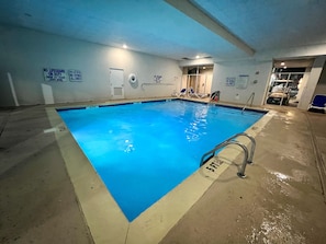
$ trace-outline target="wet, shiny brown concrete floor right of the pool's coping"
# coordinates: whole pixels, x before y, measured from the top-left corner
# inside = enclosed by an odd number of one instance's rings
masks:
[[[325,162],[326,115],[276,108],[256,137],[248,177],[225,172],[161,244],[325,243],[326,205],[313,140]]]

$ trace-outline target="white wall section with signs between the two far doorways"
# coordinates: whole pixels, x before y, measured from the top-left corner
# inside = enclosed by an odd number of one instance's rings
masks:
[[[220,100],[227,103],[245,104],[255,92],[254,105],[262,105],[270,80],[272,61],[229,61],[214,65],[212,92],[221,91]],[[247,89],[226,85],[226,78],[239,79],[249,75]]]

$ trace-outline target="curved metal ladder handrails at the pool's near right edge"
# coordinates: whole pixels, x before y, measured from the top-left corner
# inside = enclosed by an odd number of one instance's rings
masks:
[[[250,152],[248,151],[248,148],[236,141],[235,139],[237,137],[247,137],[250,141],[251,141],[251,148],[250,148]],[[213,156],[215,156],[215,153],[217,150],[228,146],[228,144],[236,144],[238,147],[240,147],[244,152],[245,152],[245,158],[243,160],[243,165],[239,170],[239,172],[237,173],[237,175],[241,178],[246,177],[245,175],[245,171],[246,171],[246,166],[247,164],[251,164],[252,163],[252,158],[254,158],[254,153],[255,153],[255,149],[256,149],[256,140],[250,137],[249,135],[245,133],[245,132],[241,132],[241,133],[236,133],[235,136],[228,138],[227,140],[221,142],[220,144],[215,146],[215,148],[213,148],[212,150],[210,150],[209,152],[204,153],[202,159],[201,159],[201,163],[200,163],[200,166],[203,166],[206,162],[209,162],[210,159],[212,159]]]

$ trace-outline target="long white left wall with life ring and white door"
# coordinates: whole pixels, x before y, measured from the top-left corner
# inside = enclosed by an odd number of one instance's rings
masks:
[[[124,70],[126,98],[169,96],[180,86],[182,71],[175,60],[26,28],[0,25],[0,106],[14,105],[8,72],[20,105],[44,104],[42,84],[50,85],[55,103],[110,100],[110,68]],[[43,68],[80,70],[82,82],[46,82]],[[138,78],[134,86],[130,73]],[[154,75],[166,85],[154,84]]]

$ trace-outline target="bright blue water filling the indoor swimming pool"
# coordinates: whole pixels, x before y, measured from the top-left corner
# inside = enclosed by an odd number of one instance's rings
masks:
[[[130,221],[263,115],[179,100],[58,113]]]

